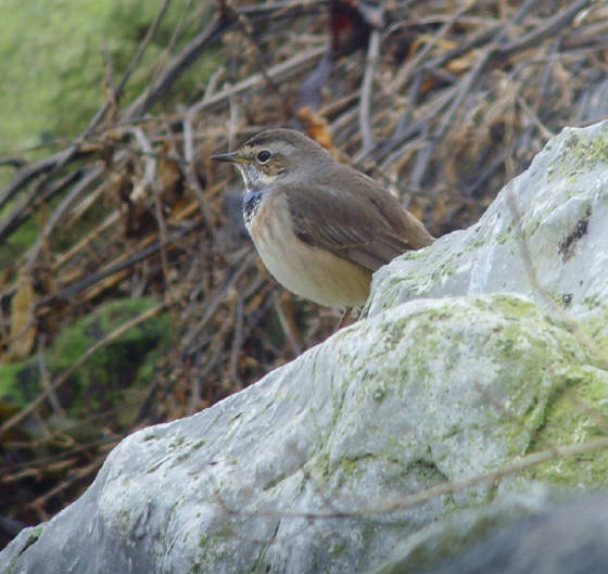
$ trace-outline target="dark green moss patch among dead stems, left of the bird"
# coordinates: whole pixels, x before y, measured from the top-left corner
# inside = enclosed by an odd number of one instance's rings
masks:
[[[47,353],[51,378],[66,372],[101,339],[155,304],[152,299],[112,302],[76,321]],[[152,363],[169,344],[169,317],[165,314],[149,318],[93,353],[58,390],[68,416],[78,419],[91,410],[113,406],[125,409],[125,390],[147,385],[153,373]],[[140,367],[143,367],[141,372]],[[39,392],[36,358],[0,367],[0,400],[23,407]],[[136,394],[131,398],[137,403]],[[125,410],[123,414],[129,413]]]

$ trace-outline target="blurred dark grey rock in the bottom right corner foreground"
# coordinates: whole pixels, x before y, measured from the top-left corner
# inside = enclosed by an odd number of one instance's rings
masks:
[[[422,528],[369,574],[605,574],[606,515],[606,495],[565,500],[563,493],[536,484]],[[470,548],[461,553],[463,547]],[[456,556],[449,556],[454,550]],[[438,556],[443,557],[441,565]],[[435,566],[422,569],[426,562]]]

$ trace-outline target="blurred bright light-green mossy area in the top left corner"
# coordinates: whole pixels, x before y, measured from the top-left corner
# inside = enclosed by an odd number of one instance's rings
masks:
[[[112,60],[117,82],[159,11],[145,0],[4,0],[0,37],[0,149],[38,145],[80,131],[103,104],[102,50]],[[165,48],[183,16],[183,2],[170,2],[140,65],[127,84],[125,100],[136,97],[157,71]],[[197,10],[192,7],[191,10]],[[205,15],[201,15],[201,18]],[[200,31],[201,20],[183,18],[178,51]],[[210,75],[210,58],[181,80],[188,98]],[[2,144],[0,144],[0,148]]]

